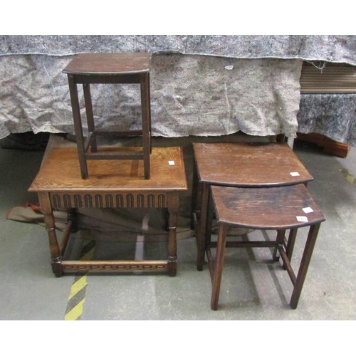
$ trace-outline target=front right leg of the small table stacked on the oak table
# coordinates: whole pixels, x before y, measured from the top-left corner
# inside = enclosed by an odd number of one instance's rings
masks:
[[[150,90],[148,88],[148,75],[141,76],[141,108],[142,108],[142,145],[143,164],[145,169],[145,179],[150,179],[150,152],[151,152],[151,131],[150,131]]]

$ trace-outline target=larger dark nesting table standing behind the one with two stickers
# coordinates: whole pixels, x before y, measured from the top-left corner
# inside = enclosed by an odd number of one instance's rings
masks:
[[[218,142],[194,143],[192,211],[197,211],[197,269],[204,265],[211,235],[210,187],[279,187],[307,184],[313,177],[286,143]],[[199,192],[199,194],[198,194]],[[199,202],[198,202],[199,201]],[[211,201],[210,201],[211,203]],[[290,244],[294,234],[290,231]]]

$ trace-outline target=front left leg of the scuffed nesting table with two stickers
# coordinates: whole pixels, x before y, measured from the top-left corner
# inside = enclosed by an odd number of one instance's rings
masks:
[[[219,225],[218,244],[216,248],[216,261],[213,271],[213,290],[211,292],[210,307],[212,310],[217,310],[219,304],[219,294],[221,285],[221,274],[224,267],[225,244],[226,244],[226,225]]]

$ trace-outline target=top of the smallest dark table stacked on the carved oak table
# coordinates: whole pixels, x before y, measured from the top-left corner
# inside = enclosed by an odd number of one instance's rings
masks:
[[[73,58],[63,73],[76,75],[125,75],[150,72],[151,54],[81,53]]]

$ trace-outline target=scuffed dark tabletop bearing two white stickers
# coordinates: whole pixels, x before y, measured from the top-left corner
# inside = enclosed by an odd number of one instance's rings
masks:
[[[248,229],[295,229],[325,217],[304,184],[271,188],[211,187],[219,224]]]

